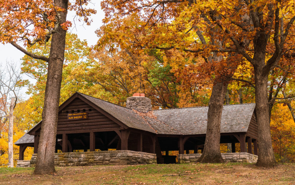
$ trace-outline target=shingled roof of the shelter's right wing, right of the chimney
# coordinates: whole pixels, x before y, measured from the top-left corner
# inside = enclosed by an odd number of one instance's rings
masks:
[[[247,132],[254,108],[255,104],[224,105],[220,132]],[[153,112],[159,121],[164,122],[185,135],[206,134],[208,106],[159,109]]]

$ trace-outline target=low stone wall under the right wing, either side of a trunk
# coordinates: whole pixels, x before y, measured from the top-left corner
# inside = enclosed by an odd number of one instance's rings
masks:
[[[202,154],[179,154],[178,163],[196,162]],[[258,156],[249,154],[247,152],[240,153],[221,153],[225,162],[245,162],[256,163]]]

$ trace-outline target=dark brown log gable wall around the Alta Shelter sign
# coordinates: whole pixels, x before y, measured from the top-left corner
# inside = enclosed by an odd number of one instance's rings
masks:
[[[71,120],[67,119],[67,111],[88,112],[88,119]],[[83,133],[91,131],[114,130],[120,128],[118,124],[104,116],[101,112],[91,107],[81,99],[75,99],[63,111],[58,114],[57,134]]]

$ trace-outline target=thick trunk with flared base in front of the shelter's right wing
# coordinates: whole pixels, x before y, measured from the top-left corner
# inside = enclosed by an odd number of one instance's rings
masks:
[[[219,78],[215,80],[218,81]],[[204,151],[197,162],[201,163],[223,163],[220,153],[220,123],[224,97],[228,82],[217,82],[213,85],[209,100],[207,132]]]

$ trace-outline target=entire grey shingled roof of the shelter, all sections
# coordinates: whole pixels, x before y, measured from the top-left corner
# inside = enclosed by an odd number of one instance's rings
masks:
[[[87,99],[130,128],[154,134],[206,134],[208,106],[153,110],[154,116],[151,117],[148,116],[148,113],[138,114],[137,111],[123,106],[86,94],[77,94],[78,97]],[[247,132],[254,109],[255,104],[224,105],[221,118],[221,133]],[[39,124],[41,122],[37,125]],[[15,144],[33,142],[34,136],[25,134]]]

